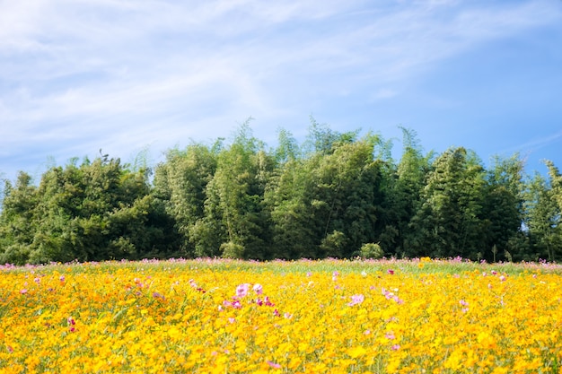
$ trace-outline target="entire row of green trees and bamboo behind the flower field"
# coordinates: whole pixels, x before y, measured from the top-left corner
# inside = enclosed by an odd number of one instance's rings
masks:
[[[381,135],[312,119],[299,144],[268,148],[242,124],[230,143],[189,144],[165,161],[101,155],[4,181],[0,263],[147,257],[562,257],[562,176],[524,172],[518,154],[485,167],[455,147],[423,152],[402,128],[400,160]]]

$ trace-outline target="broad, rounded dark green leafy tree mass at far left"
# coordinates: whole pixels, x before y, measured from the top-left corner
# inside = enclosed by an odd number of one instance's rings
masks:
[[[47,170],[39,187],[31,187],[22,174],[16,188],[9,188],[2,230],[25,222],[26,233],[12,230],[2,259],[47,263],[168,256],[166,220],[149,195],[145,170],[127,170],[106,156],[80,167],[76,161]]]

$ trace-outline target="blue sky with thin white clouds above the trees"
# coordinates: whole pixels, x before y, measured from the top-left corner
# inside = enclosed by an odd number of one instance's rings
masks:
[[[562,1],[0,0],[0,173],[313,116],[562,169]]]

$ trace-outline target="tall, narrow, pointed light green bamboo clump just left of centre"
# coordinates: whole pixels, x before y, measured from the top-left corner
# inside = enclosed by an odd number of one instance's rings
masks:
[[[245,258],[268,257],[269,222],[262,202],[274,159],[263,148],[247,121],[233,144],[217,154],[215,174],[206,186],[205,217],[194,231],[199,256],[238,248],[233,253]]]

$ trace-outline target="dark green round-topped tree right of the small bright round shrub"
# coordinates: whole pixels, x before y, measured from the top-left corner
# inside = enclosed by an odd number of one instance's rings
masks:
[[[417,256],[478,257],[484,177],[478,158],[464,148],[437,157],[411,222]]]

